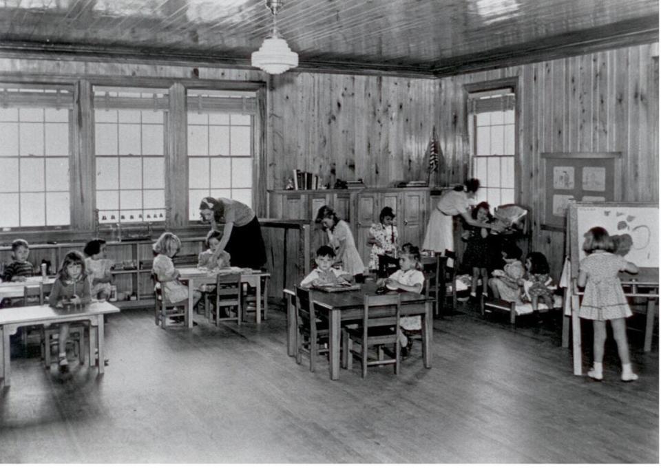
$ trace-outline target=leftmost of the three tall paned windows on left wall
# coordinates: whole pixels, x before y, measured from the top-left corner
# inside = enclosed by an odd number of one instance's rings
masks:
[[[0,85],[0,227],[70,224],[69,89]]]

